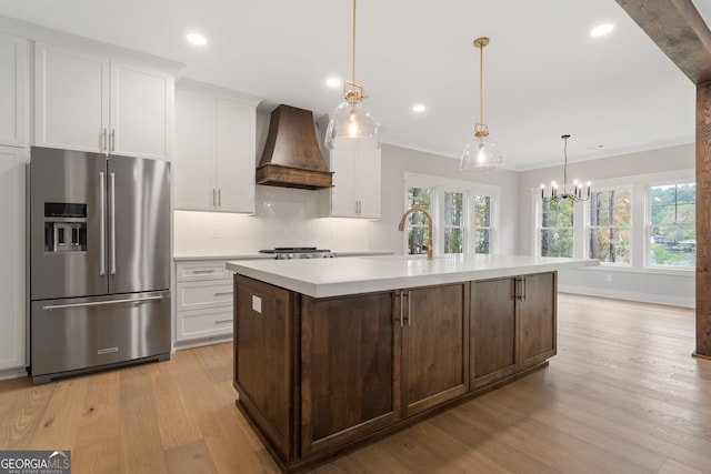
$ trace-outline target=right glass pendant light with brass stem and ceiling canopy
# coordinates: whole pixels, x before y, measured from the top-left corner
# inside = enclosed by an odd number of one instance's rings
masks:
[[[483,120],[483,49],[489,38],[477,38],[474,48],[479,48],[479,122],[474,124],[474,135],[464,147],[460,170],[488,171],[501,167],[503,159],[497,144],[489,138],[489,125]]]

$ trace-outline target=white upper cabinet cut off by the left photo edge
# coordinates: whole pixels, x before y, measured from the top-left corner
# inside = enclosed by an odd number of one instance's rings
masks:
[[[27,147],[27,40],[0,33],[0,145]]]

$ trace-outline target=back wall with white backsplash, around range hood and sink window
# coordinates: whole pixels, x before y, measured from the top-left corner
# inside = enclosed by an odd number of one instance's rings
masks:
[[[257,115],[258,153],[267,140],[269,107]],[[403,209],[403,173],[413,172],[501,186],[501,242],[499,253],[515,253],[518,173],[498,170],[478,174],[459,171],[458,160],[399,147],[382,147],[381,219],[336,219],[328,215],[328,190],[308,191],[257,186],[254,215],[174,213],[174,254],[237,255],[283,245],[317,245],[333,251],[385,250],[402,253],[397,225]]]

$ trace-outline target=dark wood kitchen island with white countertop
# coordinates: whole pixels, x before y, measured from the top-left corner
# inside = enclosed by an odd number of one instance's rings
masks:
[[[237,401],[286,472],[548,364],[558,270],[597,260],[410,255],[228,262]]]

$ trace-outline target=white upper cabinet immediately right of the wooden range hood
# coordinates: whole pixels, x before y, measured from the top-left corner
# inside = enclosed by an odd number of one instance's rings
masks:
[[[380,219],[380,150],[331,150],[331,215]]]

